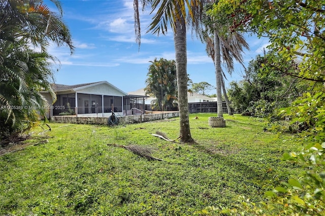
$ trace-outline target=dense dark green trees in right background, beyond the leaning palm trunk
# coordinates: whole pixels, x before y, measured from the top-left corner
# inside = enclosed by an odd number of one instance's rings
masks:
[[[274,58],[272,54],[257,55],[245,69],[244,80],[230,84],[229,95],[236,112],[256,117],[275,116],[278,109],[289,106],[306,90],[306,82],[281,75],[279,70],[262,74],[262,64]],[[293,71],[296,68],[288,69]]]

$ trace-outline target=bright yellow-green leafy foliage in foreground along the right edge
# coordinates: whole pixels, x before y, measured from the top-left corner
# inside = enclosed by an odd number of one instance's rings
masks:
[[[265,73],[277,70],[309,84],[307,91],[281,112],[291,124],[304,126],[299,135],[306,143],[300,154],[285,154],[283,159],[308,167],[299,181],[289,179],[284,187],[266,193],[283,204],[282,215],[325,212],[324,5],[324,0],[220,0],[210,11],[213,16],[222,14],[232,20],[231,29],[251,30],[269,38],[275,58],[261,64]]]

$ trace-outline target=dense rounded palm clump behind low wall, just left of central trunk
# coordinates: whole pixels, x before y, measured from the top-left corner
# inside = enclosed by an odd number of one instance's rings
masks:
[[[177,99],[175,61],[160,58],[150,62],[145,91],[156,98],[153,107],[158,110],[172,110]]]

